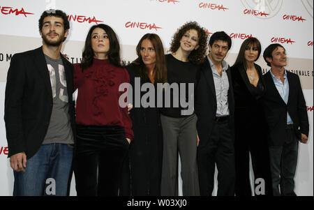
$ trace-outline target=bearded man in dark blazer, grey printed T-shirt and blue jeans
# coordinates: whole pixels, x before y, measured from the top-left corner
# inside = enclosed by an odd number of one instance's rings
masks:
[[[13,55],[4,120],[14,170],[13,195],[67,195],[73,158],[73,66],[60,54],[68,17],[47,10],[39,20],[43,46]]]

